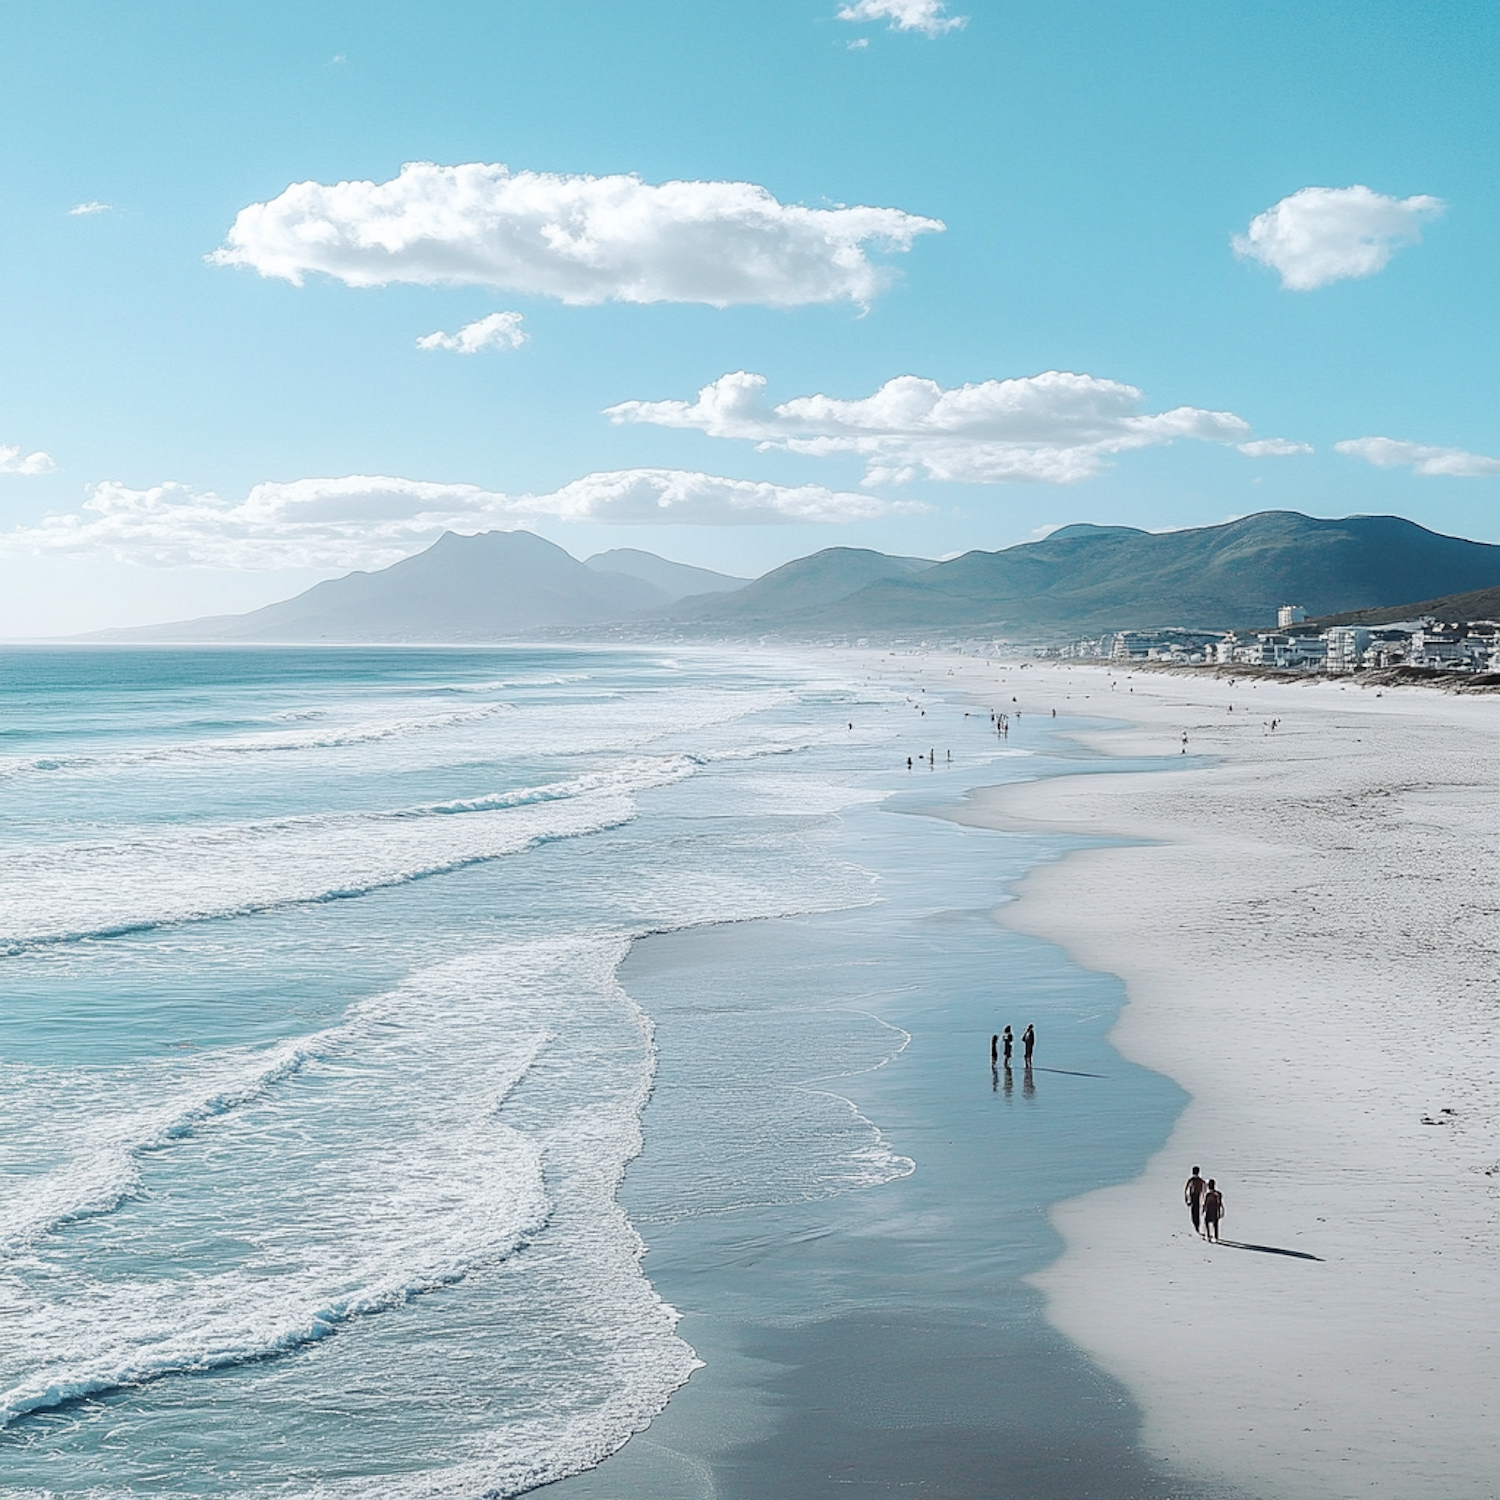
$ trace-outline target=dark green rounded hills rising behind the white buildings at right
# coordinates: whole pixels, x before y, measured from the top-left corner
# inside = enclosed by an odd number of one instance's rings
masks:
[[[840,554],[788,564],[735,594],[687,600],[672,616],[760,630],[772,624],[771,606],[780,606],[776,627],[795,634],[958,630],[1024,639],[1160,626],[1264,627],[1284,603],[1326,615],[1500,584],[1500,546],[1444,537],[1398,516],[1314,520],[1262,512],[1167,532],[1076,525],[938,564],[861,554],[856,568],[842,566]],[[843,586],[860,568],[870,580]],[[820,591],[824,574],[837,586]],[[778,578],[790,586],[777,591]]]

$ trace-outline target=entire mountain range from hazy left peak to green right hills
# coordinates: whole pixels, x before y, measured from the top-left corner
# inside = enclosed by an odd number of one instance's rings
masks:
[[[610,626],[700,638],[910,633],[1058,639],[1186,626],[1256,628],[1280,604],[1310,616],[1443,614],[1500,586],[1500,546],[1400,516],[1317,520],[1262,512],[1150,532],[1072,525],[948,561],[828,548],[747,582],[621,548],[579,562],[528,531],[446,534],[376,573],[350,573],[248,615],[88,639],[471,642]],[[1406,604],[1422,600],[1424,604]]]

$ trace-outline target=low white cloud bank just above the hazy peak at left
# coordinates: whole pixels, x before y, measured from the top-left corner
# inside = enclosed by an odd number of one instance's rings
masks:
[[[0,554],[108,555],[147,567],[386,567],[444,531],[542,518],[618,525],[768,525],[914,514],[926,506],[681,470],[585,474],[549,495],[506,495],[350,474],[256,484],[242,501],[186,484],[93,484],[82,508],[0,534]]]

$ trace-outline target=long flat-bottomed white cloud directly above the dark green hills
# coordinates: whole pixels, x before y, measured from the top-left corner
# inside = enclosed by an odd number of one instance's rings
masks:
[[[627,400],[604,416],[746,438],[762,450],[856,453],[866,460],[866,484],[918,474],[970,484],[1066,484],[1096,474],[1112,453],[1174,438],[1238,442],[1250,435],[1233,412],[1143,412],[1134,386],[1062,370],[951,390],[900,375],[861,400],[800,396],[780,406],[766,406],[764,390],[764,375],[740,370],[705,386],[693,402]]]

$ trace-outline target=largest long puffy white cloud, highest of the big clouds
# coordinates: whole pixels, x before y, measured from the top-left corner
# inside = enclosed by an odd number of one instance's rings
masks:
[[[300,286],[498,286],[574,306],[867,304],[890,279],[867,246],[908,250],[936,219],[804,208],[753,183],[561,177],[408,162],[387,183],[294,183],[237,214],[208,260]]]

